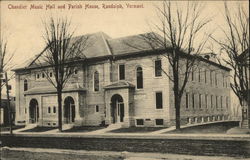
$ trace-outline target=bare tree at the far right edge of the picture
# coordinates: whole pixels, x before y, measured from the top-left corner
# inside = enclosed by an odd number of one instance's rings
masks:
[[[225,25],[222,26],[224,38],[217,40],[211,37],[218,45],[222,54],[226,55],[223,61],[233,70],[230,86],[239,99],[240,105],[250,102],[249,89],[249,16],[246,8],[238,4],[229,8],[224,3]]]

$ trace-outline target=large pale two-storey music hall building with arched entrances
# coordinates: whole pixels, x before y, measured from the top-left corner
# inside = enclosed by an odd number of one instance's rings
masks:
[[[112,39],[91,34],[85,59],[63,90],[63,123],[98,126],[175,124],[172,83],[162,51],[154,51],[140,35]],[[131,45],[127,45],[129,42]],[[56,90],[36,65],[40,53],[16,74],[16,123],[57,126]],[[164,71],[164,72],[163,72]],[[200,123],[229,118],[230,69],[201,58],[186,87],[181,104],[181,123]],[[53,77],[53,74],[50,74]]]

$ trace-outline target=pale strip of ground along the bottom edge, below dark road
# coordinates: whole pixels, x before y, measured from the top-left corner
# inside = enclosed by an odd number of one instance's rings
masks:
[[[34,154],[35,153],[35,154]],[[114,152],[114,151],[85,151],[69,149],[46,149],[46,148],[8,148],[2,149],[3,159],[26,160],[37,158],[43,160],[53,159],[107,159],[107,160],[234,160],[234,157],[227,156],[193,156],[182,154],[164,153],[134,153],[134,152]],[[46,155],[46,156],[45,156]],[[246,158],[237,157],[238,160]]]

